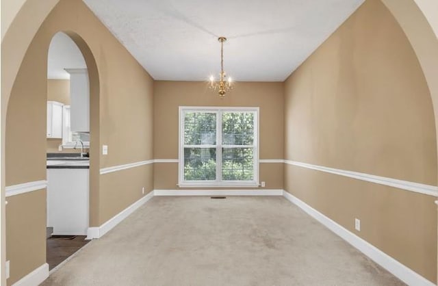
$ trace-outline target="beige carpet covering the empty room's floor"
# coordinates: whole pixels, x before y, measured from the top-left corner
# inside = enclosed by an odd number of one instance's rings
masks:
[[[283,197],[154,197],[42,285],[404,285]]]

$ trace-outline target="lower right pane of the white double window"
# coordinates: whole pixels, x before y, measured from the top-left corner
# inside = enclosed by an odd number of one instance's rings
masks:
[[[254,180],[253,148],[222,148],[222,180]]]

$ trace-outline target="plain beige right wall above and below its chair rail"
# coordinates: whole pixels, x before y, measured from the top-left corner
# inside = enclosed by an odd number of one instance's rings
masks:
[[[420,64],[385,5],[366,1],[285,82],[285,159],[437,184],[435,118]],[[430,281],[434,197],[300,167],[285,189]]]

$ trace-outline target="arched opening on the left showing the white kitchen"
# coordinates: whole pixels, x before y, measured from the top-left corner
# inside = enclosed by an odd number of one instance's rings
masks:
[[[63,32],[47,59],[47,255],[49,270],[85,246],[89,216],[90,88],[81,51]]]

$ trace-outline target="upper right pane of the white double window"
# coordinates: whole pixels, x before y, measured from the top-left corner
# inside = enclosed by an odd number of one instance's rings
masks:
[[[252,112],[224,112],[222,114],[222,144],[252,145],[254,142],[254,114]]]

